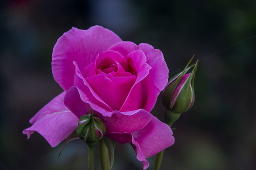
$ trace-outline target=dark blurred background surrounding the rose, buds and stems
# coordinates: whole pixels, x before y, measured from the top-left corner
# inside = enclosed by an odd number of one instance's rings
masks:
[[[70,142],[60,158],[28,120],[62,92],[51,73],[57,39],[72,26],[101,25],[124,41],[160,49],[174,76],[193,54],[195,103],[174,124],[162,170],[256,170],[255,0],[1,0],[0,169],[86,170],[87,146]],[[223,50],[231,45],[232,48]],[[194,60],[195,61],[195,60]],[[163,120],[159,98],[152,113]],[[113,170],[141,170],[129,144],[117,144]],[[95,169],[100,170],[96,151]],[[155,157],[148,159],[152,170]]]

